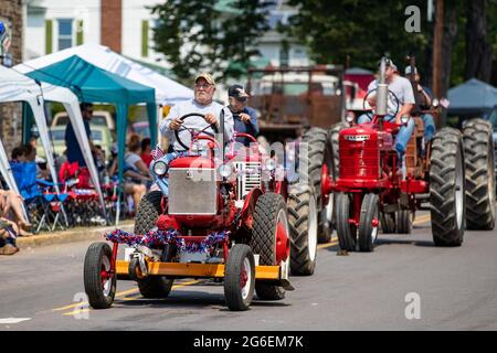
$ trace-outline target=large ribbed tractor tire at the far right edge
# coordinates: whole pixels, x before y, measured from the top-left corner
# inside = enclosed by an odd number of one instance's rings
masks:
[[[495,150],[491,124],[472,119],[463,127],[466,172],[466,226],[495,227]]]

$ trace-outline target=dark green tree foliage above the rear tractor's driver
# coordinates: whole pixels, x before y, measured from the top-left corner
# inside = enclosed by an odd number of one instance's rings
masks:
[[[421,15],[421,32],[408,33],[408,4],[385,0],[381,6],[367,0],[290,0],[299,8],[290,19],[288,34],[308,46],[317,63],[345,64],[376,69],[385,53],[404,66],[405,55],[413,53],[425,64],[431,41],[431,25]],[[409,6],[425,9],[425,0],[412,0]]]

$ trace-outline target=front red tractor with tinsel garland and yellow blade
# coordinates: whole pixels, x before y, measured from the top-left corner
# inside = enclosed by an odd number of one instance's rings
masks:
[[[191,114],[181,120],[192,116],[203,118]],[[274,160],[256,145],[245,153],[230,146],[220,148],[222,125],[218,138],[205,129],[188,130],[190,143],[176,133],[187,152],[163,154],[152,162],[160,191],[141,200],[134,234],[115,231],[107,234],[113,248],[107,243],[88,248],[84,284],[93,308],[110,307],[117,276],[136,280],[145,298],[167,297],[179,278],[223,280],[228,307],[246,310],[254,290],[263,300],[281,300],[285,289],[293,290],[290,263],[297,274],[314,271],[315,256],[306,246],[290,260],[290,247],[308,243],[309,222],[292,224],[287,201],[292,220],[308,213],[302,202],[302,210],[292,208],[292,200],[305,197],[306,189],[289,194],[286,181],[275,178]],[[250,135],[237,136],[256,142]],[[290,239],[292,234],[304,239]],[[123,243],[134,250],[126,260],[117,260]]]

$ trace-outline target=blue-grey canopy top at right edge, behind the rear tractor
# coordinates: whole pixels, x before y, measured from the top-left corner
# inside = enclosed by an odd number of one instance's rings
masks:
[[[450,115],[484,115],[497,106],[497,88],[472,78],[448,89]]]

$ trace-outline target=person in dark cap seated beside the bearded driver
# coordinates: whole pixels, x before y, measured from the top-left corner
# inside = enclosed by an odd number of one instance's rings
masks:
[[[248,94],[245,92],[242,85],[232,85],[228,89],[228,108],[233,114],[234,130],[236,132],[243,132],[257,137],[258,122],[257,113],[254,108],[247,106]],[[251,139],[246,137],[236,138],[236,142],[243,143],[248,147]]]

